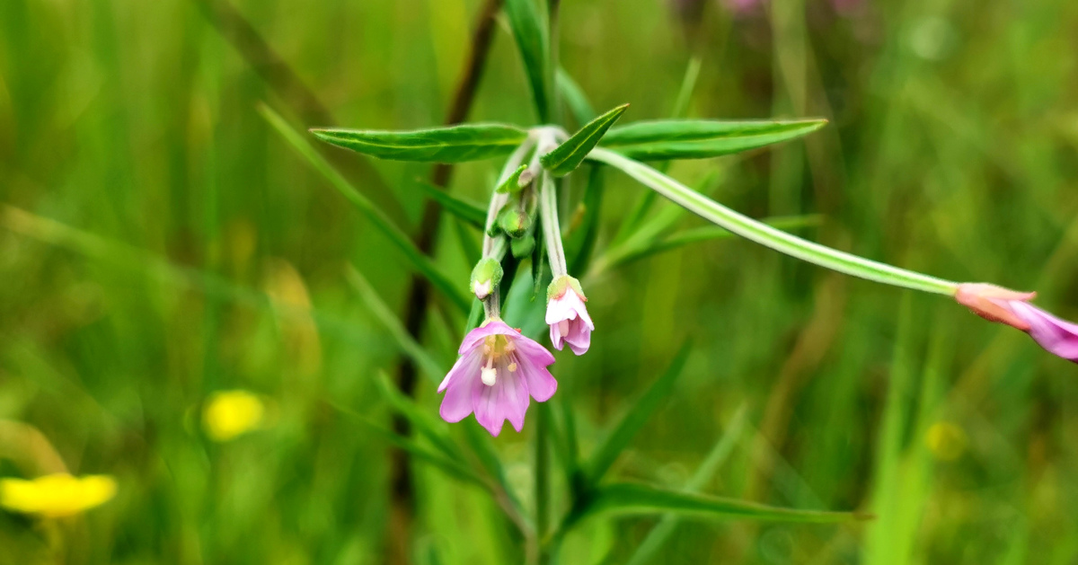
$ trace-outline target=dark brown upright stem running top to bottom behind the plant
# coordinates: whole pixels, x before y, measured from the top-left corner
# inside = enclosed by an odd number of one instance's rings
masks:
[[[445,116],[446,125],[458,124],[468,118],[472,102],[475,99],[475,92],[479,87],[483,68],[486,66],[487,54],[490,50],[490,42],[494,39],[495,16],[501,9],[502,0],[487,0],[480,11],[475,31],[472,33],[471,50],[468,56],[468,64],[465,66],[457,83],[456,93],[453,96],[453,104]],[[431,171],[431,184],[445,188],[453,176],[453,165],[439,164]],[[434,236],[438,234],[438,224],[441,220],[441,211],[438,204],[431,199],[423,208],[423,221],[419,223],[419,234],[416,236],[416,246],[424,253],[430,254],[434,248]],[[407,332],[419,340],[423,326],[427,320],[427,306],[430,303],[430,284],[421,275],[412,275],[409,286],[407,301],[405,302],[404,327]],[[416,367],[406,356],[402,356],[398,366],[397,385],[401,392],[412,396],[415,392]],[[407,436],[411,428],[406,419],[401,416],[393,418],[393,431]],[[389,560],[390,564],[409,563],[407,546],[411,532],[412,513],[414,510],[414,492],[412,488],[412,474],[407,465],[407,454],[402,451],[395,451],[391,458],[390,469],[391,484],[391,508],[390,508],[390,529],[389,529]]]

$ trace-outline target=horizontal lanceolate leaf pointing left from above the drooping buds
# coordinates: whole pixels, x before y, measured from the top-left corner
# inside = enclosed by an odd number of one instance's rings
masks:
[[[359,153],[393,161],[461,163],[511,153],[528,137],[505,124],[465,124],[414,132],[312,129],[318,139]]]

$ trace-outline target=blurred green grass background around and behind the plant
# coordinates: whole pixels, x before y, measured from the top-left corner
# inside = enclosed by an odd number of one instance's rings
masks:
[[[479,2],[237,6],[340,124],[409,128],[443,119]],[[829,118],[803,143],[672,174],[697,181],[722,166],[717,197],[738,210],[820,213],[824,243],[1036,289],[1075,319],[1076,33],[1078,4],[1065,0],[865,0],[848,12],[772,0],[742,15],[709,3],[692,46],[657,0],[566,0],[562,59],[597,108],[631,102],[626,119],[667,115],[693,53],[692,116]],[[529,123],[527,96],[501,26],[471,118]],[[0,2],[0,201],[80,231],[56,240],[0,215],[0,418],[40,429],[73,471],[121,485],[55,527],[0,513],[0,563],[382,562],[387,445],[329,401],[387,421],[374,378],[397,346],[346,265],[398,312],[407,265],[271,130],[262,101],[288,113],[189,0]],[[373,165],[403,203],[387,212],[414,231],[427,169]],[[494,170],[458,167],[452,190],[482,201]],[[608,178],[600,245],[641,190]],[[451,225],[439,240],[462,289],[469,265]],[[1078,555],[1076,370],[1023,335],[736,240],[649,258],[588,291],[592,350],[555,366],[583,453],[691,336],[677,390],[616,473],[681,487],[745,404],[748,424],[705,492],[877,515],[687,521],[663,561]],[[442,362],[454,316],[427,331]],[[272,399],[275,425],[208,442],[199,406],[229,388]],[[434,413],[432,386],[419,400]],[[966,438],[956,457],[926,443],[940,422]],[[529,435],[496,442],[524,493]],[[417,562],[519,559],[485,495],[416,471]],[[32,472],[0,460],[0,474]],[[654,523],[593,521],[567,554],[624,562]]]

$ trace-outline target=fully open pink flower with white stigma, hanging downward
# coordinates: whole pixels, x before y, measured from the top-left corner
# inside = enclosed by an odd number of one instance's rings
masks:
[[[547,370],[554,356],[501,320],[487,320],[468,332],[459,354],[438,387],[439,392],[445,391],[439,411],[445,422],[460,422],[475,413],[492,436],[501,432],[507,419],[521,431],[529,397],[544,402],[557,389],[557,381]]]

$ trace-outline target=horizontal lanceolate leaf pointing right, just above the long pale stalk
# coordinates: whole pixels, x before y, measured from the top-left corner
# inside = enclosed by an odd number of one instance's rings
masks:
[[[657,120],[613,127],[603,147],[644,161],[706,159],[789,141],[811,134],[827,120],[719,122]]]

